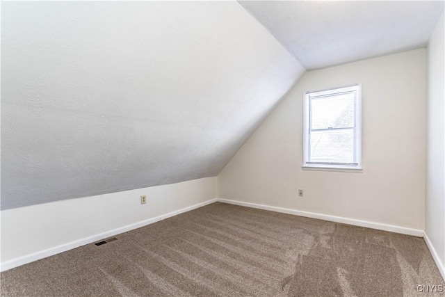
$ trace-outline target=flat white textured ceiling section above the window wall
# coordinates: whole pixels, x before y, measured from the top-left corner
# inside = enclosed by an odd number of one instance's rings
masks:
[[[426,47],[444,1],[240,1],[307,70]]]

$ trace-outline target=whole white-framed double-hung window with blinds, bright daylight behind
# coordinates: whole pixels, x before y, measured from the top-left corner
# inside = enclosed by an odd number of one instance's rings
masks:
[[[359,84],[305,94],[303,167],[362,169]]]

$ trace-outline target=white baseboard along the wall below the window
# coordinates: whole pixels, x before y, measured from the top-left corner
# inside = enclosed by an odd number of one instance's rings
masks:
[[[252,208],[256,208],[256,209],[276,211],[276,212],[280,212],[282,214],[293,214],[296,216],[305,216],[307,218],[318,218],[320,220],[329,220],[329,221],[335,222],[335,223],[343,223],[343,224],[355,225],[355,226],[359,226],[359,227],[368,227],[368,228],[372,228],[372,229],[396,232],[396,233],[413,235],[413,236],[418,236],[418,237],[423,236],[423,230],[401,227],[401,226],[396,226],[396,225],[375,223],[375,222],[370,222],[368,220],[357,220],[355,218],[345,218],[342,216],[330,216],[328,214],[318,214],[318,213],[309,212],[309,211],[300,211],[300,210],[296,210],[296,209],[288,209],[288,208],[283,208],[283,207],[272,207],[272,206],[264,205],[264,204],[256,204],[256,203],[242,202],[242,201],[236,201],[236,200],[227,200],[227,199],[221,199],[221,198],[218,198],[217,200],[218,200],[218,202],[235,204],[235,205],[240,205],[243,207],[252,207]]]

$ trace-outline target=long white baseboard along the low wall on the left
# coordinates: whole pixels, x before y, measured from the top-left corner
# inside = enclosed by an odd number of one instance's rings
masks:
[[[191,211],[193,209],[204,207],[204,206],[206,206],[208,204],[212,204],[214,202],[216,202],[216,199],[207,200],[204,202],[200,202],[200,203],[191,205],[190,207],[184,207],[183,209],[178,209],[177,211],[172,211],[168,214],[163,214],[161,216],[156,216],[154,218],[142,220],[137,223],[119,227],[119,228],[116,228],[114,230],[110,230],[107,232],[102,232],[100,234],[89,236],[84,239],[79,239],[76,241],[62,244],[60,246],[55,246],[54,248],[48,248],[46,250],[34,252],[30,255],[25,255],[22,257],[15,258],[15,259],[10,259],[10,260],[8,260],[6,262],[2,262],[0,264],[0,271],[7,271],[7,270],[9,270],[11,268],[15,268],[17,266],[22,266],[24,264],[28,264],[28,263],[52,256],[52,255],[59,254],[60,252],[66,252],[67,250],[72,250],[73,248],[78,248],[79,246],[85,246],[86,244],[93,243],[93,242],[99,241],[101,239],[106,239],[107,237],[110,237],[110,236],[115,236],[115,235],[118,235],[118,234],[121,234],[124,232],[138,229],[140,227],[144,227],[144,226],[150,225],[152,223],[159,222],[160,220],[165,220],[165,218],[170,218],[172,216],[177,216],[178,214],[183,214],[183,213],[185,213],[187,211]]]

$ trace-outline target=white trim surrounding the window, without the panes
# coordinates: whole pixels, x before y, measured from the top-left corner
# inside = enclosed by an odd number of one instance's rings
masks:
[[[332,93],[332,90],[337,89],[353,89],[357,88],[357,102],[355,107],[355,153],[357,154],[357,165],[343,165],[340,163],[321,163],[321,164],[307,164],[309,159],[309,95],[312,93]],[[355,83],[350,86],[335,87],[326,90],[308,91],[303,95],[303,164],[302,168],[307,170],[325,170],[325,171],[339,171],[339,172],[362,172],[362,84]]]

